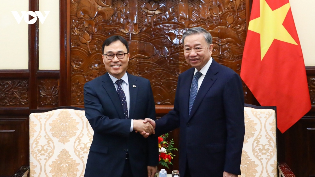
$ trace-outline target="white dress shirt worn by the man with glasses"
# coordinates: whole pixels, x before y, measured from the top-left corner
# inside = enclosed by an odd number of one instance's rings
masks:
[[[109,73],[108,73],[109,74]],[[118,85],[115,83],[118,79],[114,76],[112,76],[111,74],[109,74],[109,77],[112,79],[114,85],[115,85],[115,88],[116,88],[116,91],[117,91],[117,88],[118,88]],[[122,78],[120,78],[123,80],[123,83],[121,84],[121,88],[123,89],[123,92],[125,93],[125,96],[126,96],[126,102],[127,102],[127,109],[128,109],[128,117],[129,117],[129,109],[130,109],[130,93],[129,93],[129,80],[128,80],[128,75],[127,75],[127,72],[123,75]],[[131,119],[131,126],[130,126],[130,132],[132,132],[132,130],[134,129],[134,120]]]

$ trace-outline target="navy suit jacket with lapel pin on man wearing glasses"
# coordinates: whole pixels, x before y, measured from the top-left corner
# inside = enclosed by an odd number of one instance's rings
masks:
[[[150,82],[130,74],[128,79],[129,119],[124,118],[116,88],[108,73],[84,85],[85,115],[94,130],[85,177],[121,177],[127,149],[133,176],[147,177],[147,166],[158,164],[157,137],[144,138],[135,131],[130,133],[130,119],[148,117],[156,120]]]

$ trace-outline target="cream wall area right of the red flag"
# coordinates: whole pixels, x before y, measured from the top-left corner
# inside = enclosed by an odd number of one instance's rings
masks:
[[[315,7],[314,0],[290,0],[291,10],[299,35],[305,66],[315,66]]]

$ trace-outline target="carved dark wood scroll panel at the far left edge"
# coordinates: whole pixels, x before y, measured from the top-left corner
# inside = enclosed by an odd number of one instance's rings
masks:
[[[0,80],[0,107],[28,107],[28,81]]]

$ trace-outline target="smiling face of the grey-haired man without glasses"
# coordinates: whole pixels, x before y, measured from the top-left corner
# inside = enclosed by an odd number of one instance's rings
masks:
[[[208,44],[203,34],[193,34],[185,37],[184,55],[186,62],[200,71],[210,60],[213,44]]]

